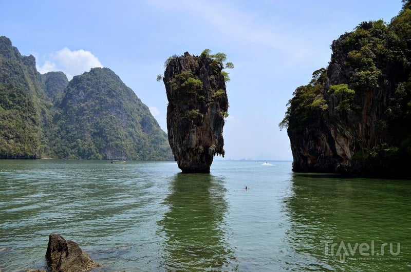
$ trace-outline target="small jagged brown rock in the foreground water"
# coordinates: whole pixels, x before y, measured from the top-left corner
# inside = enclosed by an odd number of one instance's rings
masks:
[[[77,243],[66,241],[57,234],[50,234],[46,261],[52,272],[87,271],[101,266],[83,252]]]

